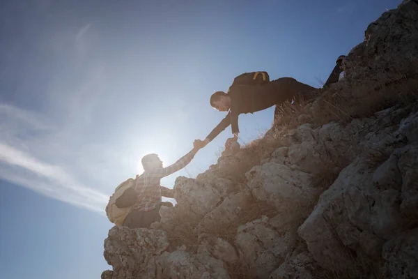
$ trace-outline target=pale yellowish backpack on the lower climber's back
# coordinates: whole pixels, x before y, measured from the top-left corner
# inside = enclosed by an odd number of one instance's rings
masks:
[[[111,195],[109,198],[109,202],[106,206],[106,215],[107,218],[111,223],[114,223],[115,225],[122,226],[123,221],[125,220],[125,217],[128,213],[130,213],[130,209],[132,206],[125,207],[123,209],[118,208],[116,206],[115,202],[118,197],[121,197],[123,192],[127,190],[128,188],[134,186],[135,180],[134,179],[127,179],[127,181],[119,184],[118,187],[115,189],[115,193]]]

